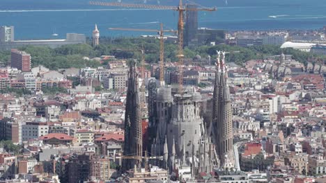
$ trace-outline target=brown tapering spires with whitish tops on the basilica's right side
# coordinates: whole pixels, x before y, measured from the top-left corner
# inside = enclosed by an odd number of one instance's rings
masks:
[[[220,58],[222,55],[222,59]],[[217,51],[213,115],[210,124],[212,142],[216,146],[221,166],[233,162],[233,123],[225,52]],[[231,165],[230,165],[231,166]]]

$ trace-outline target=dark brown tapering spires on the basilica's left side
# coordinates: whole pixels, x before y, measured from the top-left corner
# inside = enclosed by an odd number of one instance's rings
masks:
[[[129,170],[141,165],[143,155],[143,133],[141,125],[141,103],[139,96],[138,73],[135,62],[130,65],[128,73],[127,103],[125,105],[125,145],[123,168]]]

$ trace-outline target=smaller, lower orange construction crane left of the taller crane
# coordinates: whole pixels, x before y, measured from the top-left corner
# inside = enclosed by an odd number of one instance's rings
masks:
[[[164,30],[163,24],[160,24],[160,30],[138,29],[138,28],[109,28],[109,30],[130,30],[141,32],[157,32],[160,35],[160,84],[164,85],[164,33],[178,33],[177,30]],[[143,74],[143,73],[141,73]]]

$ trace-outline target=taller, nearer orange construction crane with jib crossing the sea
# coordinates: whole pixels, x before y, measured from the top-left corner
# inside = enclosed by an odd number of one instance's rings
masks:
[[[183,13],[187,11],[215,11],[216,8],[187,8],[183,6],[183,0],[179,0],[179,6],[160,6],[160,5],[148,5],[148,4],[132,4],[132,3],[116,3],[116,2],[100,2],[100,1],[91,1],[90,4],[98,6],[120,6],[125,8],[148,8],[148,9],[157,9],[157,10],[176,10],[179,12],[178,19],[178,84],[179,94],[183,94],[183,30],[184,30],[184,20]]]

